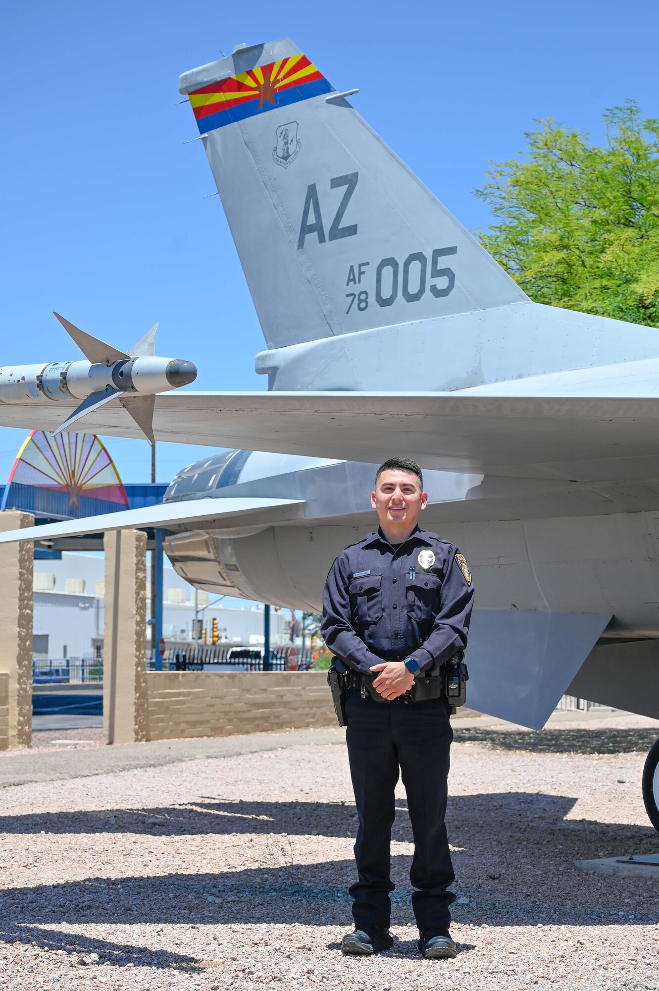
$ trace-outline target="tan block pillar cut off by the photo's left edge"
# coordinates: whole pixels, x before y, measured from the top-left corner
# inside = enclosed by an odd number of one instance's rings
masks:
[[[34,526],[30,512],[0,512],[0,530]],[[32,743],[32,617],[34,544],[0,547],[0,672],[7,686],[7,739],[10,747]]]

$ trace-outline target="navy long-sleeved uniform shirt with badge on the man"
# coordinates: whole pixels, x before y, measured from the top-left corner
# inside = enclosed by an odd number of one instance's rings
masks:
[[[435,667],[466,647],[473,600],[455,544],[416,527],[393,547],[378,528],[332,564],[321,633],[332,654],[366,674],[408,657]]]

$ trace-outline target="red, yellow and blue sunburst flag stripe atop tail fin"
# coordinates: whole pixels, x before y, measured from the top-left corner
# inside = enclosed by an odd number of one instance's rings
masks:
[[[203,86],[190,93],[190,103],[200,130],[204,130],[202,122],[222,127],[225,123],[251,117],[262,109],[271,110],[308,99],[329,92],[331,88],[323,73],[306,55],[291,55]],[[296,92],[287,92],[291,90]],[[207,121],[219,114],[226,114],[227,119]]]

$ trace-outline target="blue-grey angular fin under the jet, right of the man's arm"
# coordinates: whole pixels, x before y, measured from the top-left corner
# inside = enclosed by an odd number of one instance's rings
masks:
[[[610,620],[590,612],[474,609],[469,708],[541,729]]]

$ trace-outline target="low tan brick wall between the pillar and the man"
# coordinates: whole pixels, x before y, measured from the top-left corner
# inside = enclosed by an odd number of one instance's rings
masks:
[[[326,671],[151,672],[147,738],[335,725],[327,678]]]

